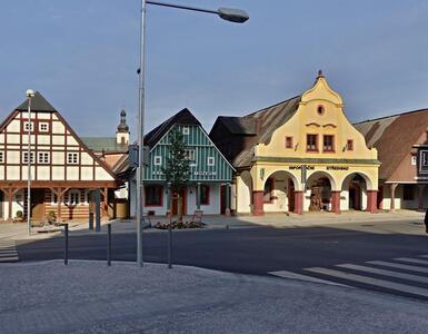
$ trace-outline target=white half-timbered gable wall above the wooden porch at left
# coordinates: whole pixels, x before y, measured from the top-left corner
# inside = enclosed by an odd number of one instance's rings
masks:
[[[86,147],[58,111],[31,111],[31,179],[37,183],[108,183],[109,167]],[[28,179],[28,112],[14,110],[0,126],[0,183]]]

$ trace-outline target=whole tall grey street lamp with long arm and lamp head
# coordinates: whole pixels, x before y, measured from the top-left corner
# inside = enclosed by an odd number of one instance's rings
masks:
[[[142,207],[143,207],[143,179],[145,179],[145,161],[143,161],[143,141],[145,141],[145,35],[146,35],[146,4],[162,6],[183,10],[199,11],[205,13],[217,14],[219,18],[243,23],[249,17],[240,9],[219,8],[218,10],[201,9],[175,3],[166,3],[158,1],[141,0],[141,28],[140,28],[140,70],[139,70],[139,112],[138,112],[138,157],[139,164],[137,168],[137,264],[142,267]]]

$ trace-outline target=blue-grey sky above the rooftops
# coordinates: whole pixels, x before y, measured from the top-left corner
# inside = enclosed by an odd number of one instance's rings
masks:
[[[352,121],[428,108],[427,0],[170,0],[240,8],[243,24],[148,4],[146,130],[182,108],[209,131],[309,89],[322,69]],[[139,0],[0,0],[0,118],[39,90],[82,137],[138,119]]]

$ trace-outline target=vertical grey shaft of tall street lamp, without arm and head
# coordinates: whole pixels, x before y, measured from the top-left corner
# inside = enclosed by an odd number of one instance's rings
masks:
[[[137,168],[137,265],[142,267],[142,219],[143,219],[143,145],[145,145],[145,35],[146,35],[146,0],[141,0],[140,30],[140,77],[139,77],[139,112],[138,112],[138,168]]]

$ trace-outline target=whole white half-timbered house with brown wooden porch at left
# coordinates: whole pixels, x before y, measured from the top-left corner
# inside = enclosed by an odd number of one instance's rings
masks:
[[[109,189],[117,188],[110,168],[39,92],[31,100],[30,122],[28,116],[26,100],[0,126],[0,219],[13,219],[18,212],[24,217],[30,213],[32,220],[43,220],[50,212],[58,220],[87,218],[94,189],[100,189],[101,215],[106,215]]]

